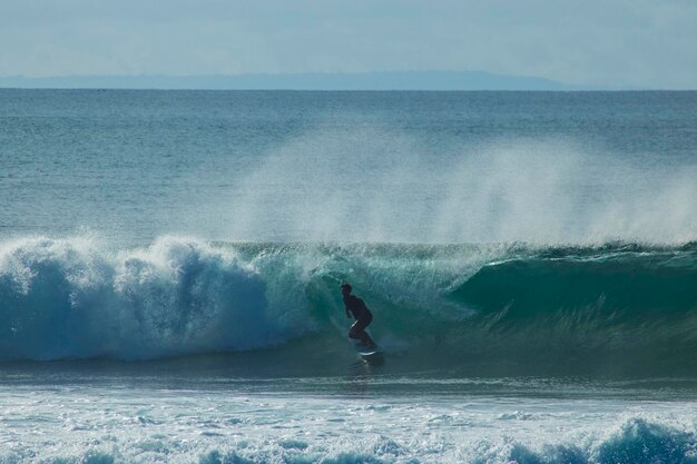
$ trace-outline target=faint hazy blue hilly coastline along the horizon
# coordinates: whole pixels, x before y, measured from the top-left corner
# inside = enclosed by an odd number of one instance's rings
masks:
[[[600,90],[484,71],[384,71],[237,76],[0,77],[0,88],[210,90]]]

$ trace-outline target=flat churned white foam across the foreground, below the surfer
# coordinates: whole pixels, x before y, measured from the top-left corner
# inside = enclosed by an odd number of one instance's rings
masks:
[[[0,387],[0,463],[695,460],[689,402],[239,394],[143,383],[13,385]]]

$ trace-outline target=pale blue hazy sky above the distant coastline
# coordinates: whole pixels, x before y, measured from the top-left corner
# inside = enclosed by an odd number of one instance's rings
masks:
[[[0,0],[0,77],[488,71],[697,88],[695,0]]]

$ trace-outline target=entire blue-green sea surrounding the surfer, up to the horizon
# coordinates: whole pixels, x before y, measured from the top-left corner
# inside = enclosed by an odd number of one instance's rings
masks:
[[[696,241],[697,92],[0,90],[0,463],[697,462]]]

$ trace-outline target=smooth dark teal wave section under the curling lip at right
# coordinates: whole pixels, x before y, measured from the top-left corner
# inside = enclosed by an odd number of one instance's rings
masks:
[[[510,317],[586,308],[666,317],[695,308],[696,264],[676,250],[541,254],[487,265],[452,296],[483,312],[509,307]]]

